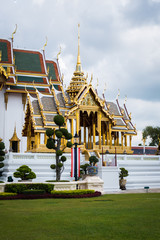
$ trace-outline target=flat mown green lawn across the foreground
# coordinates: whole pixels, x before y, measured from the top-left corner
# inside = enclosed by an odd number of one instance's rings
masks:
[[[160,193],[0,201],[2,240],[157,240]]]

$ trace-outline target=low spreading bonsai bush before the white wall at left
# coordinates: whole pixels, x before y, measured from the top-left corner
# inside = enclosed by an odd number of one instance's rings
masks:
[[[28,181],[36,178],[36,174],[27,165],[22,165],[13,173],[15,178],[21,178],[21,181]]]

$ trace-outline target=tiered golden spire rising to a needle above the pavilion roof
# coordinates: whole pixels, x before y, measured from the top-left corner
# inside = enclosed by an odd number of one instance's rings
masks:
[[[70,85],[68,86],[67,92],[70,95],[71,101],[78,94],[80,89],[87,83],[86,77],[84,77],[84,72],[82,71],[82,64],[80,58],[80,24],[78,24],[78,55],[77,55],[77,64],[76,71],[73,73]]]

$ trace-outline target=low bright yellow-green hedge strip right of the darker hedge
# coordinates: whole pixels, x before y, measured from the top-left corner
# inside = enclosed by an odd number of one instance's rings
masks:
[[[78,190],[64,190],[64,191],[56,191],[53,190],[51,191],[51,194],[59,194],[59,195],[82,195],[82,194],[90,194],[94,193],[94,190],[89,190],[89,189],[78,189]]]

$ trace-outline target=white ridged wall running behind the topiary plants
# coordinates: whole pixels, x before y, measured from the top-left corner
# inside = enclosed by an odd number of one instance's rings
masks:
[[[71,155],[65,154],[67,161],[64,163],[62,180],[73,181],[70,177]],[[117,155],[117,167],[114,167],[115,156],[105,155],[103,161],[106,166],[102,166],[102,158],[98,163],[99,177],[104,181],[104,190],[118,190],[118,168],[124,167],[129,171],[127,177],[127,189],[138,189],[149,186],[150,188],[160,188],[160,156],[147,155]],[[81,164],[85,162],[84,155],[81,154]],[[37,175],[33,182],[44,182],[55,180],[55,171],[50,165],[55,163],[55,154],[33,154],[33,153],[9,153],[4,161],[3,176],[1,180],[7,181],[8,176],[13,177],[13,173],[21,165],[28,165]],[[14,182],[18,179],[14,178]]]

